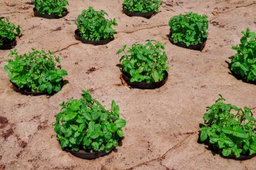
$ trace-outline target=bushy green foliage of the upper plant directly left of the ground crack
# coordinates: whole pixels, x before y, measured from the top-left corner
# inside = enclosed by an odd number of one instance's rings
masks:
[[[108,20],[104,15],[108,16],[103,10],[95,11],[92,7],[84,9],[75,21],[80,36],[85,40],[112,39],[115,34],[112,26],[117,26],[117,22],[115,18]]]

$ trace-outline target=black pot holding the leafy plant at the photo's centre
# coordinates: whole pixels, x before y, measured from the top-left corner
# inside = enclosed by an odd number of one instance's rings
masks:
[[[129,75],[126,75],[125,73],[123,73],[123,78],[125,79],[125,82],[131,87],[135,87],[138,89],[156,89],[156,88],[162,87],[166,83],[168,79],[168,72],[165,71],[164,79],[162,81],[158,81],[154,83],[131,82],[131,78],[129,77]]]

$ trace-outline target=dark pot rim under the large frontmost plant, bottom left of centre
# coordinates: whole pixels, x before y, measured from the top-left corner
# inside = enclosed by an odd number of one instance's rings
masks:
[[[114,149],[115,149],[115,146],[112,146],[110,148],[110,152],[113,151]],[[94,152],[94,153],[86,153],[86,151],[82,151],[82,150],[80,150],[78,152],[75,152],[75,151],[73,151],[73,149],[69,149],[69,148],[66,148],[65,150],[67,152],[71,153],[73,156],[81,158],[81,159],[96,159],[98,157],[103,157],[104,155],[108,154],[108,153],[106,153],[106,151],[98,151],[98,152]]]

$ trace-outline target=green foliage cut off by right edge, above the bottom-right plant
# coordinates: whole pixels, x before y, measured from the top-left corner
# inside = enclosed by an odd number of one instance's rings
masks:
[[[237,53],[232,57],[230,69],[247,82],[256,81],[256,33],[247,28],[242,34],[241,44],[232,47]]]

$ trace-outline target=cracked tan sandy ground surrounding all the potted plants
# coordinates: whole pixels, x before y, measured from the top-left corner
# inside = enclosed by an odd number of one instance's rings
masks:
[[[255,169],[249,161],[222,159],[197,143],[199,123],[205,107],[218,94],[240,107],[256,110],[256,86],[238,81],[229,74],[226,60],[235,51],[241,30],[256,31],[256,1],[181,0],[164,1],[151,19],[128,17],[118,0],[75,0],[62,19],[32,16],[29,0],[1,0],[0,15],[22,26],[16,48],[53,50],[69,73],[69,81],[52,97],[31,97],[15,93],[3,71],[9,51],[0,51],[0,169]],[[74,21],[89,6],[104,9],[116,17],[115,40],[104,46],[75,40]],[[209,38],[202,52],[170,44],[168,21],[173,15],[194,11],[210,20]],[[166,46],[170,77],[155,90],[129,89],[121,85],[119,58],[115,52],[124,44],[155,39]],[[96,71],[86,73],[95,67]],[[80,91],[94,89],[92,95],[109,105],[115,99],[121,117],[127,120],[123,145],[106,157],[88,161],[61,151],[52,123],[59,103],[80,97]]]

